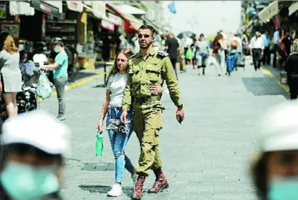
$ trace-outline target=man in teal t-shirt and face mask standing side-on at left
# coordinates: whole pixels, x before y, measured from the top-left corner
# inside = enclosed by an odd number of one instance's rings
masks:
[[[39,69],[53,70],[54,85],[57,91],[57,98],[59,102],[58,116],[61,121],[66,120],[66,99],[65,99],[65,86],[68,81],[68,56],[64,50],[64,43],[60,38],[53,41],[54,52],[57,52],[54,64],[41,65]]]

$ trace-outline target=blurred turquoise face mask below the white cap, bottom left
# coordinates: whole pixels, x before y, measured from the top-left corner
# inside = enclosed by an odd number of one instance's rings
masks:
[[[0,175],[1,184],[12,199],[36,200],[59,190],[57,167],[33,167],[8,162]]]

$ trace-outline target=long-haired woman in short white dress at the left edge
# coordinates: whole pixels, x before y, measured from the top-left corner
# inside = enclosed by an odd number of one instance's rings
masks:
[[[0,91],[6,103],[8,117],[17,116],[17,92],[22,91],[22,74],[19,67],[20,54],[10,35],[0,36]]]

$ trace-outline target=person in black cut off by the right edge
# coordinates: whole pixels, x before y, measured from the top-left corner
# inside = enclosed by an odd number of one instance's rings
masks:
[[[298,95],[298,39],[293,43],[293,52],[285,62],[288,85],[290,88],[290,99],[297,100]]]

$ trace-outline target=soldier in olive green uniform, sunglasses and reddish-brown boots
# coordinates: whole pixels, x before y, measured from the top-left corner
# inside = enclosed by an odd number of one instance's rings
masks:
[[[133,108],[133,130],[140,141],[139,175],[132,194],[132,199],[142,198],[142,189],[149,170],[153,170],[156,181],[149,193],[158,193],[169,187],[167,179],[161,170],[161,158],[158,153],[159,132],[162,128],[161,93],[150,86],[165,81],[170,91],[170,97],[177,106],[176,117],[179,122],[184,120],[184,110],[180,98],[177,78],[170,58],[166,53],[156,52],[151,47],[154,39],[154,28],[144,24],[138,30],[140,52],[128,60],[128,79],[124,91],[122,123],[127,123],[128,109]]]

